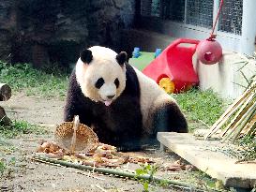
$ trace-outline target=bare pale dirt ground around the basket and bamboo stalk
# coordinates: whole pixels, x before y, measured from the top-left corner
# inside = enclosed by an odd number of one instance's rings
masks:
[[[31,159],[38,148],[39,140],[53,140],[54,127],[63,121],[65,101],[45,99],[36,96],[12,96],[7,102],[1,102],[8,117],[12,120],[25,120],[30,124],[46,126],[48,135],[22,135],[16,139],[5,140],[14,152],[7,153],[8,158],[15,159],[8,175],[0,179],[0,191],[60,192],[60,191],[143,191],[143,185],[137,181],[113,176],[91,173],[82,170],[57,167],[38,163]],[[0,151],[1,152],[1,151]],[[2,153],[2,152],[1,152]],[[172,153],[159,150],[137,153],[158,159],[161,165],[172,164],[178,159]],[[1,156],[0,156],[1,157]],[[133,167],[134,168],[133,168]],[[131,165],[131,170],[138,165]],[[157,175],[171,179],[188,177],[188,171],[159,170]],[[185,189],[151,185],[150,191],[185,191]]]

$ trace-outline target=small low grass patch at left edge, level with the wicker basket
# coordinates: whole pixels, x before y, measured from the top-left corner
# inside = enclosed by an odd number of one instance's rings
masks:
[[[11,126],[0,126],[0,137],[12,139],[21,134],[46,134],[48,131],[40,126],[30,125],[25,121],[14,121]]]

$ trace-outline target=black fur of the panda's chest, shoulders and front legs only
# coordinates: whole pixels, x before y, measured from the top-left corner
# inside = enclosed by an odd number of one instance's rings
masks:
[[[79,115],[81,123],[95,126],[100,142],[113,144],[122,151],[136,151],[141,146],[143,129],[141,93],[134,69],[128,64],[126,67],[126,88],[108,107],[83,96],[74,70],[69,80],[64,120],[70,122],[74,115]]]

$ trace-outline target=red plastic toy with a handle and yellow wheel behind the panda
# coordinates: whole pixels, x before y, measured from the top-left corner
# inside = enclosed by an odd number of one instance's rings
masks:
[[[169,45],[158,57],[143,69],[143,74],[150,77],[154,81],[166,81],[163,83],[166,90],[166,84],[170,84],[173,88],[172,93],[179,93],[187,90],[189,87],[198,84],[199,79],[194,71],[192,64],[192,56],[196,51],[199,40],[179,38]],[[187,46],[185,44],[193,44]],[[166,90],[167,91],[167,90]],[[168,91],[167,91],[168,92]],[[170,92],[170,91],[169,91]]]

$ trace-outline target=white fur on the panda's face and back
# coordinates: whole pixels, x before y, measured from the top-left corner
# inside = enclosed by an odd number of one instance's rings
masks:
[[[89,50],[93,52],[93,60],[90,64],[83,64],[81,59],[76,65],[76,77],[79,82],[84,96],[98,102],[107,100],[106,96],[115,95],[113,100],[120,96],[126,87],[126,67],[121,67],[115,60],[117,55],[111,49],[103,47],[92,47]],[[172,96],[169,96],[161,89],[156,81],[145,76],[141,71],[133,67],[141,90],[141,111],[143,114],[143,126],[148,128],[146,132],[152,129],[152,114],[159,106],[175,102]],[[107,71],[107,72],[106,72]],[[95,87],[98,78],[102,77],[105,84],[97,89]],[[120,81],[119,88],[116,89],[113,81],[118,78]]]

